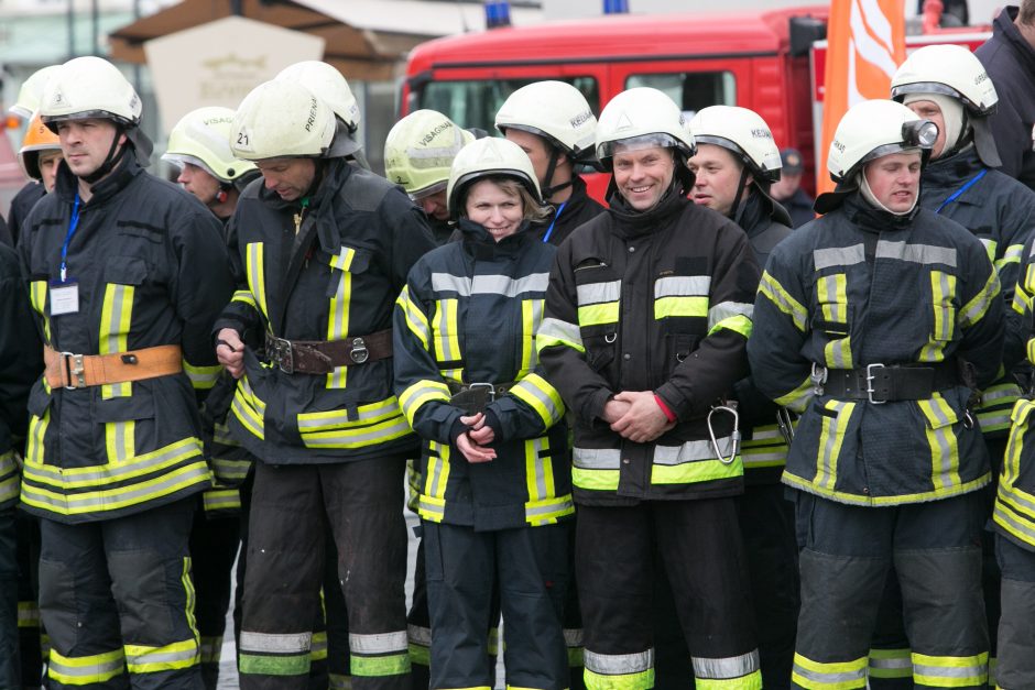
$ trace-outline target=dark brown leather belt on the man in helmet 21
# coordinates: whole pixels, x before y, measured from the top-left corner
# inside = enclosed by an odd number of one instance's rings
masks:
[[[266,333],[266,359],[285,374],[329,374],[392,357],[392,329],[341,340],[287,340]]]

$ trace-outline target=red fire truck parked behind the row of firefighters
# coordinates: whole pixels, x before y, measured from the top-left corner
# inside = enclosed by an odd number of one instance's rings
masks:
[[[828,7],[766,12],[611,14],[439,39],[413,50],[402,114],[431,108],[462,127],[494,133],[495,111],[516,88],[568,81],[593,112],[636,86],[658,88],[688,112],[742,106],[770,124],[776,143],[802,151],[813,187],[821,121]],[[907,37],[908,47],[954,42],[977,47],[989,28]],[[602,176],[597,176],[602,177]],[[604,182],[587,176],[602,196]]]

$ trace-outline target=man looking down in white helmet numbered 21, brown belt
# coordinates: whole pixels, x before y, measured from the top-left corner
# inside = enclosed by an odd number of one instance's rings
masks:
[[[352,686],[402,689],[410,660],[401,492],[416,437],[390,390],[391,305],[434,242],[399,188],[348,163],[358,143],[293,80],[252,90],[230,142],[264,178],[230,222],[239,289],[215,330],[220,362],[240,377],[230,431],[259,460],[241,687],[306,686],[329,529],[348,602]],[[246,346],[248,333],[264,335],[266,362]]]

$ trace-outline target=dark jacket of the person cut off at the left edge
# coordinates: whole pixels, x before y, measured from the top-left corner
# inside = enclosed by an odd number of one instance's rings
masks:
[[[18,501],[14,452],[25,440],[29,388],[43,369],[18,254],[7,245],[0,245],[0,508],[6,508]]]

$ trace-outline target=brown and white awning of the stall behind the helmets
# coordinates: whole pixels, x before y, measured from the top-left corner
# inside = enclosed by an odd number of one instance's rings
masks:
[[[111,58],[146,62],[143,44],[231,14],[230,0],[184,0],[116,29],[109,34]],[[318,35],[326,41],[325,62],[348,79],[390,80],[415,45],[436,36],[484,28],[480,3],[420,0],[242,0],[248,19]],[[514,24],[542,20],[538,9],[513,8]]]

